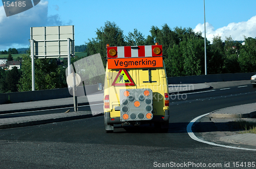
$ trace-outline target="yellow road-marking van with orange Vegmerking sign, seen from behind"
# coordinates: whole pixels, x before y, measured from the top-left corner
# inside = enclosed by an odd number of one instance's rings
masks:
[[[168,131],[169,94],[162,45],[109,46],[104,81],[104,124],[154,123]]]

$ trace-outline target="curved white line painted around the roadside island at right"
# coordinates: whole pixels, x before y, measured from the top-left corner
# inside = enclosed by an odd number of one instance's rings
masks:
[[[230,148],[230,149],[239,149],[239,150],[252,150],[252,151],[256,151],[256,149],[247,149],[247,148],[240,148],[240,147],[232,147],[232,146],[225,146],[225,145],[219,145],[219,144],[216,144],[216,143],[211,143],[211,142],[206,142],[205,140],[202,140],[202,139],[199,139],[192,131],[192,126],[193,124],[200,118],[204,117],[204,116],[207,116],[209,115],[209,113],[207,114],[204,114],[204,115],[201,115],[195,119],[193,119],[188,125],[187,125],[187,133],[188,135],[198,141],[198,142],[201,142],[201,143],[206,143],[208,145],[212,145],[212,146],[219,146],[219,147],[225,147],[225,148]]]

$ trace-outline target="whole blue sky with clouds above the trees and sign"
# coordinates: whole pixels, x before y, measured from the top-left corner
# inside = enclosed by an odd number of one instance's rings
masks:
[[[1,4],[2,5],[2,4]],[[206,37],[256,37],[256,1],[205,0]],[[115,22],[124,35],[140,31],[145,37],[151,27],[165,23],[171,28],[191,27],[195,32],[204,28],[203,0],[137,0],[137,1],[44,1],[25,12],[6,17],[0,6],[0,50],[28,47],[30,27],[75,26],[75,45],[96,37],[96,30],[106,21]]]

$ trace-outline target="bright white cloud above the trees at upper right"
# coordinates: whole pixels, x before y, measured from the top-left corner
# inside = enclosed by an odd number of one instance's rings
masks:
[[[214,36],[221,36],[223,42],[226,40],[226,37],[231,36],[233,40],[244,40],[244,36],[246,37],[256,37],[256,16],[251,17],[248,21],[238,22],[238,23],[229,23],[227,26],[220,27],[215,30],[214,26],[208,22],[206,25],[206,38],[207,40],[212,42],[212,38]],[[202,32],[202,36],[204,37],[204,24],[199,23],[194,32]]]

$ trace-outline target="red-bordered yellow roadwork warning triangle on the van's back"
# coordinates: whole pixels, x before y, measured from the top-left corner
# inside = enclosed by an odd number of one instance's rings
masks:
[[[120,69],[112,86],[135,86],[131,76],[125,69]]]

